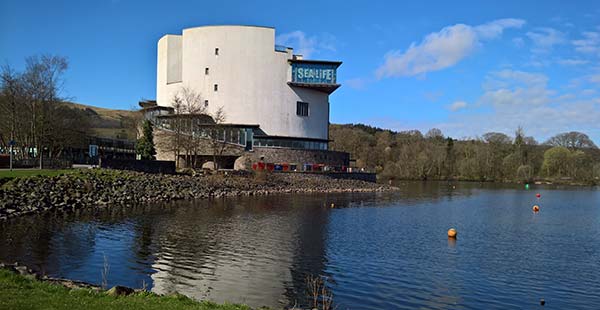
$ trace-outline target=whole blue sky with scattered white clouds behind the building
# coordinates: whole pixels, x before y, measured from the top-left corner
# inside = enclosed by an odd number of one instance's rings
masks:
[[[332,123],[600,145],[600,1],[1,0],[0,63],[65,56],[63,96],[131,109],[156,97],[158,39],[215,24],[275,27],[305,58],[343,61]]]

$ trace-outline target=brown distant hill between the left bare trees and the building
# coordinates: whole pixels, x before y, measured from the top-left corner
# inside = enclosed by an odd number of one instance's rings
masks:
[[[75,102],[65,102],[65,104],[83,112],[94,136],[110,139],[136,139],[135,120],[139,117],[136,111],[111,110]]]

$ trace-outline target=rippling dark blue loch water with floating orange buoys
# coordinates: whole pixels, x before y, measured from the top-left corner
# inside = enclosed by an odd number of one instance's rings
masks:
[[[600,309],[598,188],[397,185],[26,216],[0,261],[253,307],[306,306],[318,275],[338,309]]]

